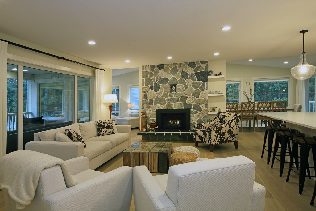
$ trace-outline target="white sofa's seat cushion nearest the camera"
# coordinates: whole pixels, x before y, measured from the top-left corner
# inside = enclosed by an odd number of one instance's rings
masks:
[[[95,158],[96,156],[112,149],[112,144],[109,141],[88,141],[87,147],[84,148],[84,157],[89,160]]]

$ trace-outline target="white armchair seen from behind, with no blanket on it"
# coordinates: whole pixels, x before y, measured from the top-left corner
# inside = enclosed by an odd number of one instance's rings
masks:
[[[253,161],[244,156],[198,160],[154,177],[145,166],[135,166],[135,210],[264,210],[265,188],[254,182]]]

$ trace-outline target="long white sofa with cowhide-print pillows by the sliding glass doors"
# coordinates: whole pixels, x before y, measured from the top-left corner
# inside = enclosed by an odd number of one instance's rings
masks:
[[[34,133],[34,140],[28,142],[25,149],[49,154],[63,160],[84,156],[89,159],[89,169],[95,169],[131,145],[131,126],[116,125],[115,127],[118,133],[104,136],[98,136],[95,121],[46,130]],[[79,133],[87,147],[80,142],[56,141],[56,132],[65,133],[66,128]]]

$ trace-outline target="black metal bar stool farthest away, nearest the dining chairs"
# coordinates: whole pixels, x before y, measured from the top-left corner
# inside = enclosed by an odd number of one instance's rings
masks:
[[[267,164],[270,163],[270,158],[271,158],[271,153],[272,153],[272,148],[273,148],[273,139],[274,139],[274,134],[275,134],[275,129],[270,125],[270,122],[263,119],[265,126],[265,133],[264,133],[264,140],[263,140],[263,147],[262,147],[262,154],[261,158],[263,158],[264,150],[268,152],[268,157],[267,157]],[[282,130],[288,130],[286,127],[281,127]],[[267,141],[267,136],[268,136],[268,146],[266,146],[266,141]],[[276,137],[278,139],[279,136]]]

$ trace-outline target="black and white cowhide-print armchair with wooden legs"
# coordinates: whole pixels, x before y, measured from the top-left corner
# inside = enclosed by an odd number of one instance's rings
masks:
[[[240,114],[219,112],[210,122],[195,124],[193,127],[193,139],[195,146],[198,142],[210,145],[213,152],[214,145],[234,142],[238,148]]]

